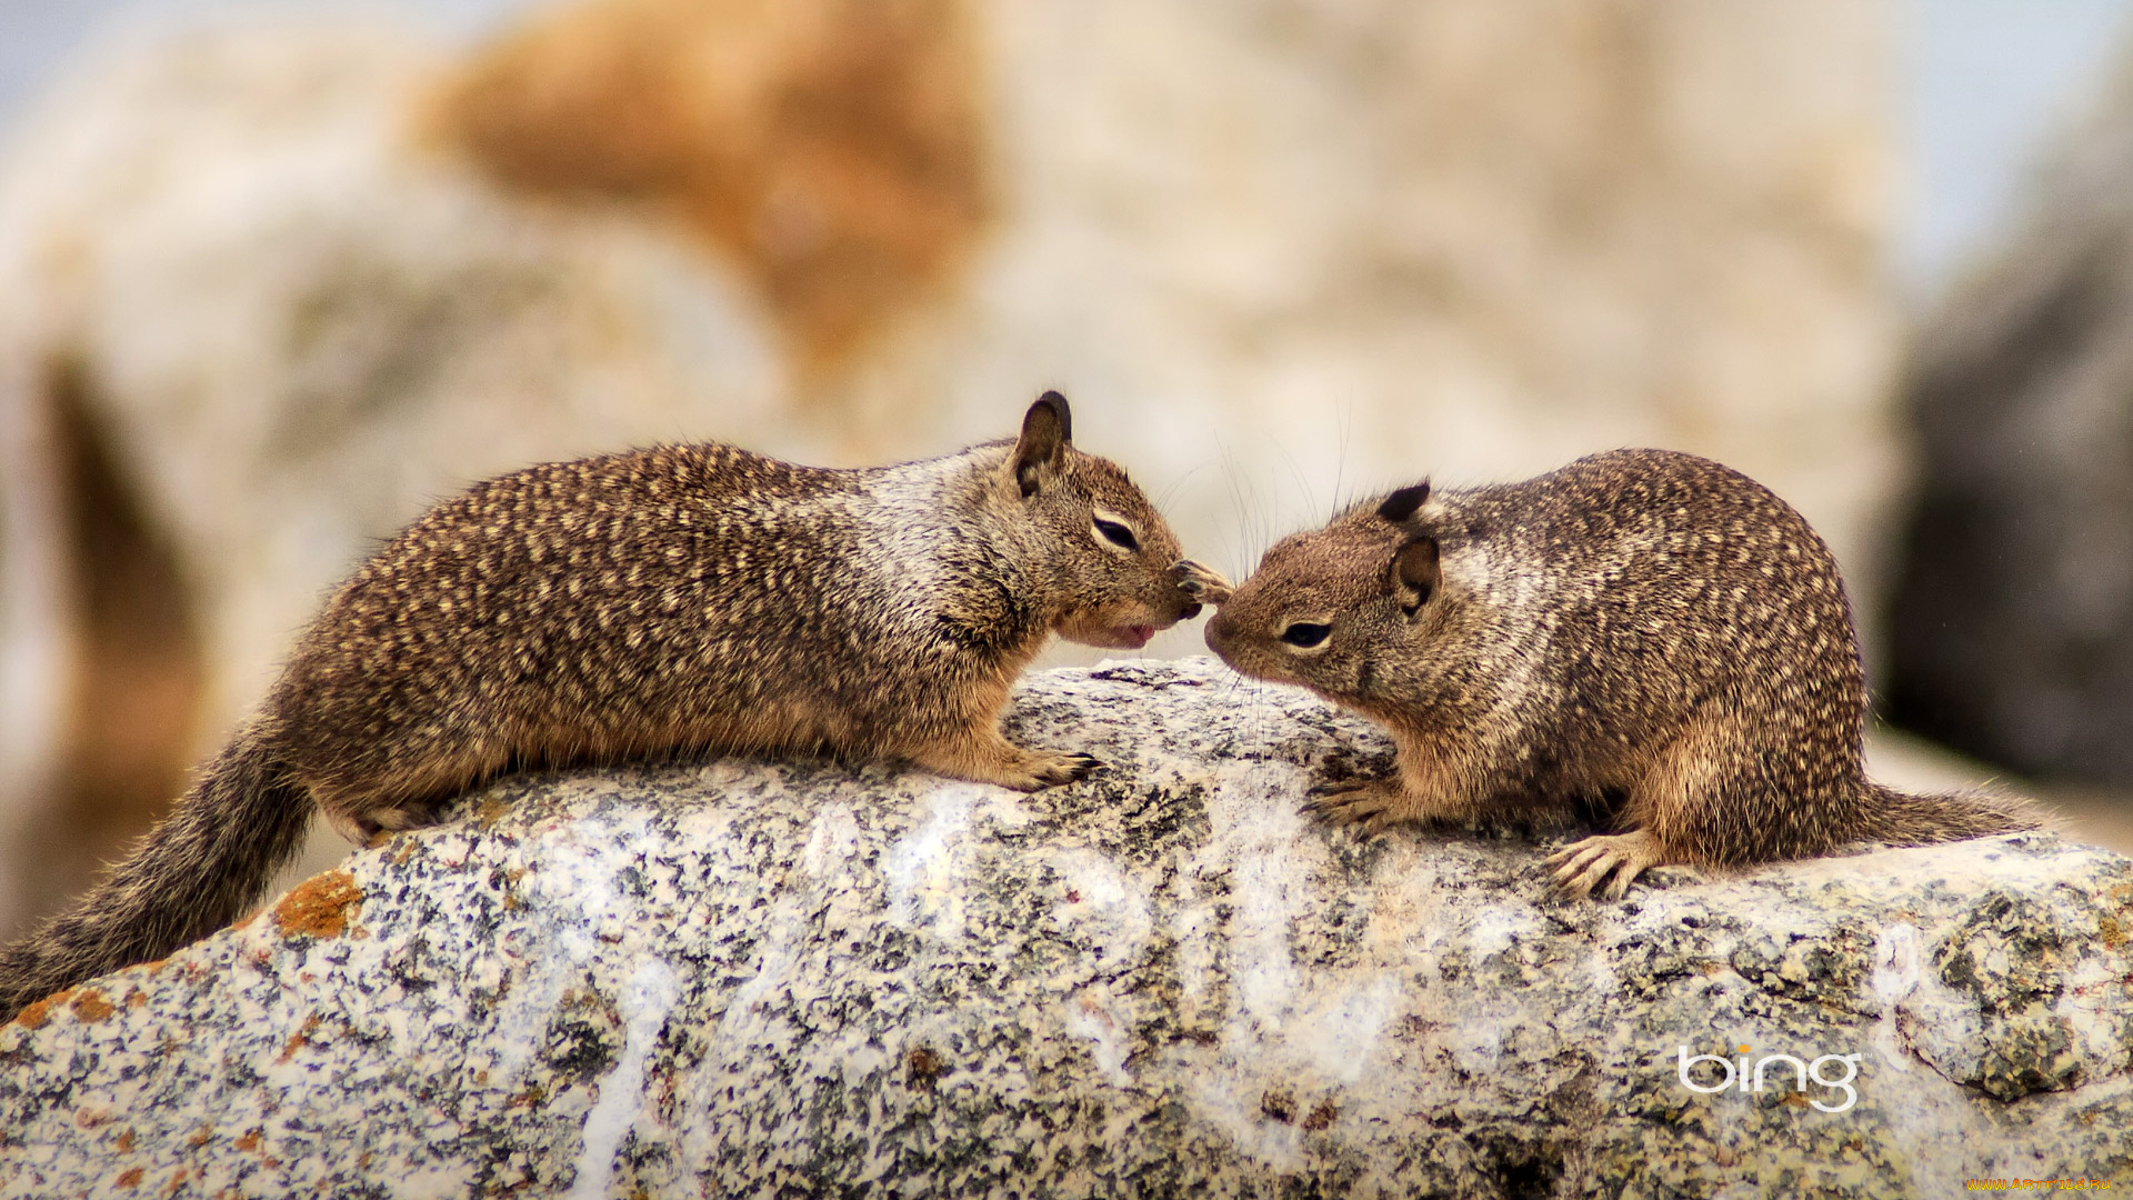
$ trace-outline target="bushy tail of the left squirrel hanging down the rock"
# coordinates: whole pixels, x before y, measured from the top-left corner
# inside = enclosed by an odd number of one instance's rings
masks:
[[[222,929],[258,903],[309,824],[309,794],[282,777],[260,726],[245,726],[90,895],[0,950],[0,1021]]]

